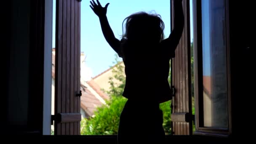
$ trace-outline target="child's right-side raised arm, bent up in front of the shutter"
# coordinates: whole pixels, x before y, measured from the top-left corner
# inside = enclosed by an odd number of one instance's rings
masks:
[[[179,44],[183,28],[184,28],[184,14],[182,8],[182,0],[174,0],[174,27],[170,36],[161,42],[164,48],[168,48],[168,53],[174,51]]]

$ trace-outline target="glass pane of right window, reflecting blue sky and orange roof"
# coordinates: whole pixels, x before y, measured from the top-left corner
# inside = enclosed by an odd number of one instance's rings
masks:
[[[228,128],[225,0],[202,0],[204,127]]]

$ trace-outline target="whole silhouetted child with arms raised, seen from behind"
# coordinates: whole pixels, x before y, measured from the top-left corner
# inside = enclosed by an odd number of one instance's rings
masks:
[[[159,104],[171,100],[169,62],[175,56],[183,32],[182,0],[174,0],[174,29],[165,40],[161,17],[145,12],[134,13],[124,20],[125,33],[118,40],[106,16],[109,3],[105,7],[98,0],[97,4],[94,1],[90,3],[94,13],[99,16],[107,43],[123,58],[125,64],[123,96],[128,101],[120,116],[118,143],[155,141],[159,144],[165,141],[163,112]]]

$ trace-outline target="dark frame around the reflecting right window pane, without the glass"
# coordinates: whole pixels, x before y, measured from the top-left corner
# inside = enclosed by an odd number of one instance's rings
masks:
[[[202,55],[202,12],[201,1],[193,0],[194,24],[194,72],[195,72],[195,128],[194,134],[227,137],[232,133],[231,121],[231,75],[230,75],[230,40],[229,40],[229,0],[225,0],[226,40],[227,40],[227,99],[228,128],[203,127],[203,55]]]

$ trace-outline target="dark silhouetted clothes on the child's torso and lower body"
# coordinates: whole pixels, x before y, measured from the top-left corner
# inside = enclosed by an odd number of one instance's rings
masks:
[[[124,43],[121,40],[125,46],[121,46],[118,55],[125,64],[123,96],[128,101],[120,116],[118,143],[164,141],[163,112],[159,104],[171,100],[168,75],[174,51],[165,51],[160,44],[129,47]],[[145,48],[148,51],[143,51]]]

